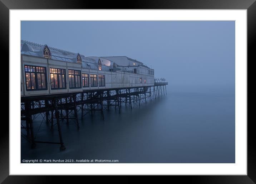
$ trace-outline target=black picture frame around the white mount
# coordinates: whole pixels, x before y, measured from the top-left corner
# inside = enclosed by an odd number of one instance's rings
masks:
[[[88,0],[1,0],[0,1],[0,29],[1,29],[1,48],[2,48],[2,65],[9,68],[9,10],[10,9],[247,9],[247,175],[215,175],[215,176],[164,176],[169,181],[178,179],[179,183],[256,183],[256,134],[253,129],[253,104],[256,98],[256,85],[253,85],[253,66],[256,61],[255,50],[256,45],[256,2],[255,0],[141,0],[141,1],[123,1],[118,4],[114,1],[88,1]],[[5,71],[9,75],[9,71]],[[9,81],[2,80],[2,86],[9,86]],[[249,85],[251,83],[251,85]],[[9,88],[1,90],[2,103],[9,104]],[[6,100],[6,102],[4,101]],[[7,107],[4,108],[9,114]],[[7,112],[8,111],[8,112]],[[99,178],[96,176],[9,176],[9,124],[2,118],[0,128],[0,182],[8,183],[54,183],[55,179],[58,183],[67,183],[70,181],[82,181],[84,177],[94,180],[98,183]],[[246,123],[246,122],[245,122]],[[101,176],[104,182],[110,181],[109,176]],[[159,177],[152,178],[151,181],[159,182]],[[171,180],[170,180],[171,179]],[[134,176],[118,176],[119,183],[131,183],[137,178]]]

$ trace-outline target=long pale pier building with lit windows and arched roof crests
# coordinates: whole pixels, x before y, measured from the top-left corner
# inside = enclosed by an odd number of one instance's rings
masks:
[[[21,40],[21,97],[154,85],[154,70],[126,56],[85,57]]]

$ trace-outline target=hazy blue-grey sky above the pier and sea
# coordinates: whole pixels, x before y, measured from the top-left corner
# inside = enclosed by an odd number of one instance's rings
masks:
[[[128,56],[169,84],[235,85],[235,21],[22,21],[21,39]]]

